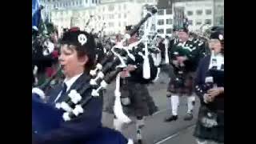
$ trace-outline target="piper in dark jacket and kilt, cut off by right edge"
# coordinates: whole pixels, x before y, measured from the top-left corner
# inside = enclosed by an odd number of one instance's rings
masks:
[[[194,136],[198,144],[224,143],[224,31],[210,35],[212,53],[203,58],[195,78],[201,101]]]

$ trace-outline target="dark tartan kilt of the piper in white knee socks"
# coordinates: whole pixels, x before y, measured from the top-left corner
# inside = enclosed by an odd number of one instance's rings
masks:
[[[194,72],[185,73],[182,76],[174,74],[170,78],[167,91],[171,94],[192,95],[194,92]]]

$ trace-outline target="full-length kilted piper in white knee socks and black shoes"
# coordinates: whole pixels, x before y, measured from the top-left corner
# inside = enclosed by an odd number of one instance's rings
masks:
[[[177,42],[170,49],[170,64],[173,66],[174,74],[170,78],[167,88],[167,98],[170,101],[172,114],[165,119],[166,122],[178,119],[179,97],[187,96],[187,113],[184,120],[190,121],[193,118],[195,97],[193,95],[194,73],[198,66],[198,50],[194,42],[189,41],[189,34],[186,27],[178,29]]]

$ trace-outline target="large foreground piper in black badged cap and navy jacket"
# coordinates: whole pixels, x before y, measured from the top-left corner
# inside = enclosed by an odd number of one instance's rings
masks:
[[[95,59],[95,43],[91,34],[81,30],[68,30],[63,34],[61,40],[61,54],[59,63],[62,66],[62,72],[65,80],[62,84],[54,86],[46,94],[38,92],[40,89],[34,89],[34,92],[41,94],[41,98],[47,98],[45,105],[52,106],[53,111],[46,111],[38,114],[37,110],[42,112],[42,107],[33,105],[32,124],[37,123],[36,115],[44,118],[46,122],[56,122],[54,117],[54,107],[59,102],[63,102],[70,94],[70,90],[77,90],[81,87],[90,85],[89,72],[94,66]],[[92,89],[86,90],[82,98],[90,97]],[[33,93],[33,90],[32,90]],[[37,101],[35,101],[37,102]],[[42,106],[44,106],[42,104]],[[83,108],[84,112],[78,117],[70,121],[59,121],[59,126],[53,130],[47,131],[46,134],[37,134],[34,130],[34,143],[36,144],[99,144],[99,143],[115,143],[126,144],[128,140],[121,133],[115,130],[102,127],[102,95],[92,97],[90,102]],[[57,110],[57,109],[56,109]],[[57,110],[58,111],[58,110]],[[52,113],[49,116],[44,114]],[[40,119],[42,121],[42,119]],[[45,123],[50,125],[50,123]]]

